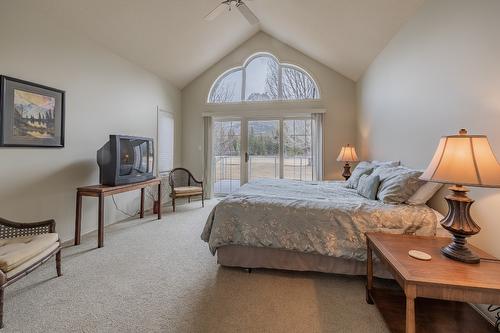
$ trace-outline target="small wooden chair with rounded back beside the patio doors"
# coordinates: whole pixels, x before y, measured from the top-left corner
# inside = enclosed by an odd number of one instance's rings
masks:
[[[175,199],[188,198],[191,202],[191,197],[201,195],[201,206],[205,207],[203,181],[196,180],[193,174],[184,168],[175,168],[170,171],[168,176],[172,198],[172,209],[175,212]]]

